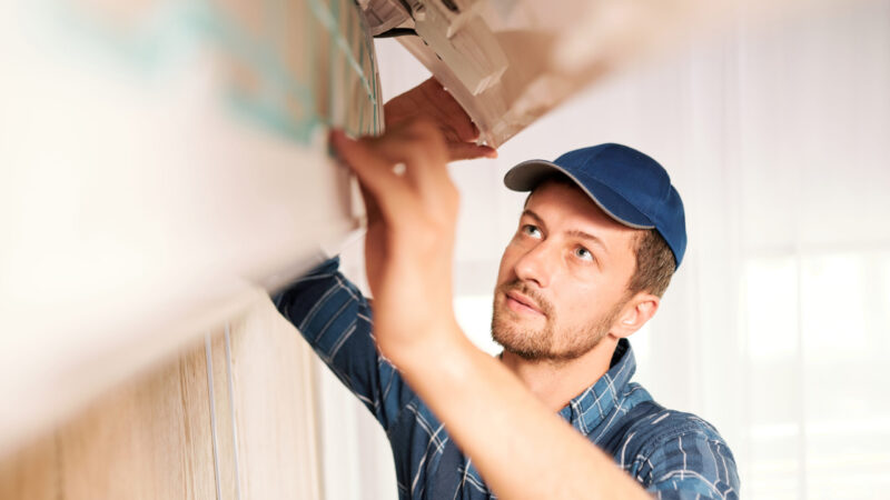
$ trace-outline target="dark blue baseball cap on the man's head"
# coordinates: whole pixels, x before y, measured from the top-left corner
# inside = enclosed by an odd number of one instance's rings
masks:
[[[680,267],[686,251],[683,200],[657,161],[633,148],[606,143],[568,151],[553,161],[523,161],[507,171],[504,184],[531,191],[555,172],[573,180],[622,224],[659,231]]]

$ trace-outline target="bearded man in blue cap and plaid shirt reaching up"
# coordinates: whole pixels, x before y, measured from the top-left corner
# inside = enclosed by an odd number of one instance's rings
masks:
[[[685,250],[664,169],[601,144],[507,173],[531,194],[501,261],[492,334],[504,351],[493,359],[452,310],[457,193],[445,167],[488,151],[459,147],[466,131],[448,146],[447,121],[332,136],[365,196],[374,334],[372,307],[336,259],[275,298],[386,430],[399,497],[738,498],[716,430],[630,382],[626,337],[655,313]]]

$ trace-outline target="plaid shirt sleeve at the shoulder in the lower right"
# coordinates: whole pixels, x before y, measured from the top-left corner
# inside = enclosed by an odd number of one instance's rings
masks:
[[[718,436],[691,430],[660,443],[646,460],[647,491],[659,499],[738,499],[735,459]]]

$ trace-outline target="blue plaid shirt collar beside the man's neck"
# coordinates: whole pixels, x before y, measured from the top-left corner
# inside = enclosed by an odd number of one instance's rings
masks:
[[[624,387],[636,371],[636,360],[627,339],[619,340],[609,371],[593,386],[572,398],[560,416],[584,436],[596,429],[623,398]]]

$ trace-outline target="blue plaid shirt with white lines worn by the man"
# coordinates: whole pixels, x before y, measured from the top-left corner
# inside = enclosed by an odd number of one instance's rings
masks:
[[[495,498],[429,408],[377,352],[370,307],[338,266],[337,258],[324,262],[274,301],[386,430],[399,498]],[[560,416],[657,498],[736,499],[735,460],[716,429],[654,402],[631,382],[635,369],[622,339],[609,371]]]

